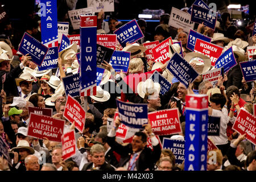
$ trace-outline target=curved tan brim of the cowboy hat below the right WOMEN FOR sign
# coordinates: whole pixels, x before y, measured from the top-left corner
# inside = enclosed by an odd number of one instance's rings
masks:
[[[191,59],[193,59],[193,57],[200,57],[201,59],[204,60],[203,71],[198,72],[200,75],[209,71],[210,66],[212,64],[210,61],[210,57],[205,56],[202,53],[198,53],[198,52],[189,52],[189,53],[186,53],[184,59],[189,63],[191,61]]]

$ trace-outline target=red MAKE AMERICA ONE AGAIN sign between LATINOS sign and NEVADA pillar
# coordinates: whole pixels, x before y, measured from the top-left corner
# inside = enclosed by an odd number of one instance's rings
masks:
[[[148,114],[152,131],[155,135],[171,135],[181,133],[179,111],[166,109],[151,112]]]

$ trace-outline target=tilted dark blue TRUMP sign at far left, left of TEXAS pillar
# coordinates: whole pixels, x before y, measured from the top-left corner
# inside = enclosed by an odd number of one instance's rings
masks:
[[[19,44],[18,51],[24,56],[29,53],[29,56],[31,56],[32,59],[31,61],[40,67],[43,63],[44,57],[47,55],[48,49],[49,48],[44,46],[44,44],[40,43],[25,32]]]

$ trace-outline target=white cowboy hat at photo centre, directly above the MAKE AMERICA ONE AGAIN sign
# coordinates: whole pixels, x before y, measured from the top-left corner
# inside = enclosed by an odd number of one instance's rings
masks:
[[[141,81],[137,85],[137,91],[141,98],[145,97],[145,94],[159,94],[160,92],[160,84],[158,82],[154,82],[151,79],[147,79],[146,81]]]

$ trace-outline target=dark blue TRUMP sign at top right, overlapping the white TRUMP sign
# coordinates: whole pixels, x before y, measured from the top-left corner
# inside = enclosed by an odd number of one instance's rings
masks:
[[[215,30],[217,22],[217,12],[204,7],[192,5],[191,21],[196,23],[203,23],[204,26]]]

